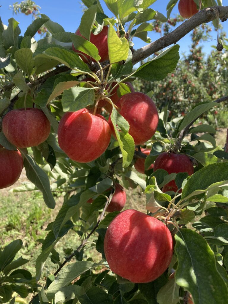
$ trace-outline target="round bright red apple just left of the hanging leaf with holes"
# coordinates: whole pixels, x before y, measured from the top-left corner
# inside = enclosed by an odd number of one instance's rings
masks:
[[[67,112],[60,119],[59,146],[73,161],[94,161],[105,152],[110,138],[107,120],[99,114],[91,114],[88,109]]]

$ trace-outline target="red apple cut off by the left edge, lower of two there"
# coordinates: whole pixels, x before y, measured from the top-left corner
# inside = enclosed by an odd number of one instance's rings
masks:
[[[23,158],[19,151],[0,149],[0,189],[16,183],[23,168]]]

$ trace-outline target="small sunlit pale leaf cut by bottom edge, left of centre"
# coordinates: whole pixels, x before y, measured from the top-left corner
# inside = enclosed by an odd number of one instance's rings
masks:
[[[78,296],[84,293],[84,288],[78,285],[69,285],[60,288],[55,294],[55,304],[62,304],[71,299],[77,299]]]

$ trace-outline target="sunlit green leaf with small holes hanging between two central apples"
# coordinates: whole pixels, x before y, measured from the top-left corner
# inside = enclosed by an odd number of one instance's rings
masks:
[[[135,143],[133,137],[128,133],[129,123],[113,107],[111,114],[112,124],[116,133],[120,150],[123,154],[123,168],[130,165],[133,160]]]

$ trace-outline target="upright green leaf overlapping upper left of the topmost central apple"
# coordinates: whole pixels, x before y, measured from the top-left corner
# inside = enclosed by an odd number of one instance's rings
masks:
[[[87,39],[88,41],[90,41],[90,34],[96,19],[96,13],[97,5],[91,5],[81,17],[79,30],[81,35],[85,37],[85,39]],[[78,50],[78,48],[76,48],[76,50]]]

